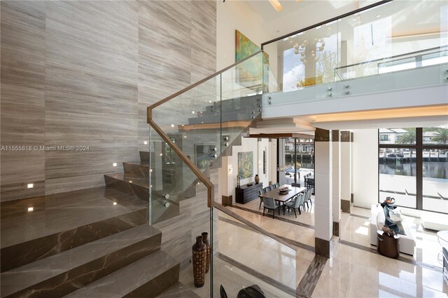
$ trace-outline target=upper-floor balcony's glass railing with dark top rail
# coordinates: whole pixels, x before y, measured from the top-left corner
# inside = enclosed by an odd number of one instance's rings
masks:
[[[374,5],[263,43],[266,107],[447,83],[446,2]]]

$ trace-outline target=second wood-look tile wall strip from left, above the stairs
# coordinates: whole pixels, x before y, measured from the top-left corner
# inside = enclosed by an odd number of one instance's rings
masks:
[[[137,2],[47,2],[45,144],[89,151],[47,151],[46,194],[137,160],[137,49]]]

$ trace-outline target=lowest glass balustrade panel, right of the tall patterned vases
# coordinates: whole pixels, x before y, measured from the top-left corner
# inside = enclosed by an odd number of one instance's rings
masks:
[[[213,297],[222,297],[221,285],[228,297],[248,287],[265,297],[296,297],[300,280],[293,248],[216,208],[213,216]]]

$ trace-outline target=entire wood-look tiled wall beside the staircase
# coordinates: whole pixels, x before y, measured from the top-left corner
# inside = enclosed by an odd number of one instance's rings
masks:
[[[1,201],[104,184],[146,107],[215,67],[215,1],[2,1],[1,144],[90,151],[2,151]]]

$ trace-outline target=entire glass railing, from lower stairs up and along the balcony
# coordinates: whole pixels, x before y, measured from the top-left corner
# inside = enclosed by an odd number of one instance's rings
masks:
[[[278,273],[269,277],[286,289],[282,297],[295,296],[295,248],[218,203],[223,156],[261,118],[262,105],[406,88],[403,80],[446,83],[447,12],[443,1],[379,1],[262,43],[261,51],[148,107],[150,222],[157,226],[186,210],[192,234],[210,234],[211,269],[197,294],[219,297],[223,285],[235,297],[251,282],[275,292],[265,276],[255,276],[264,270]],[[419,72],[417,79],[406,79],[410,72]],[[353,88],[370,78],[386,83]],[[294,90],[301,95],[272,100]],[[266,247],[247,248],[248,239]],[[274,268],[275,258],[288,266]]]

